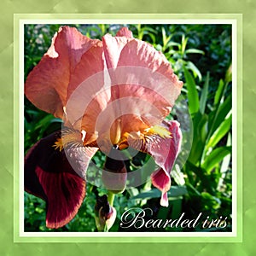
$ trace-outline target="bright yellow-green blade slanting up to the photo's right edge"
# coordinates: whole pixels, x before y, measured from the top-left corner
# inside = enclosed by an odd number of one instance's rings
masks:
[[[232,115],[230,114],[230,116],[224,119],[221,125],[218,126],[218,129],[212,134],[212,137],[207,143],[207,150],[215,147],[217,143],[227,134],[227,132],[230,131],[231,123]]]

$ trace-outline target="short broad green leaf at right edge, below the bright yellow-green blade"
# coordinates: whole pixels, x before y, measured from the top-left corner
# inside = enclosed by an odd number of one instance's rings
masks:
[[[202,168],[207,172],[211,172],[212,168],[224,159],[224,157],[228,154],[231,154],[231,147],[219,147],[214,149],[211,154],[205,157],[205,161],[202,164]]]

